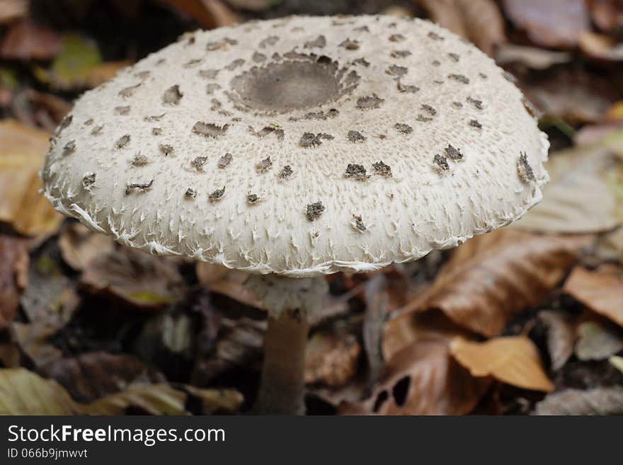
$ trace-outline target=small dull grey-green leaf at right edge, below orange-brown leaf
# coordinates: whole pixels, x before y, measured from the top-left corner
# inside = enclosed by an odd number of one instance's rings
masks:
[[[618,330],[618,331],[617,331]],[[578,326],[576,357],[580,360],[605,360],[623,350],[622,331],[595,321]]]

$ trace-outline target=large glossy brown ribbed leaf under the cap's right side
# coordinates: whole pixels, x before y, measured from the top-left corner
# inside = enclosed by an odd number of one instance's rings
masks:
[[[440,309],[464,328],[499,335],[511,316],[559,284],[586,241],[508,228],[476,236],[453,251],[433,285],[404,311]]]

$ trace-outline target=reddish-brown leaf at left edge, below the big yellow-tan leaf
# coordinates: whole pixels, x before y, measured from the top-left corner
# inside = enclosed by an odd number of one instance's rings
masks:
[[[28,269],[26,241],[0,235],[0,330],[9,326],[17,314],[19,297],[28,281],[24,269]]]

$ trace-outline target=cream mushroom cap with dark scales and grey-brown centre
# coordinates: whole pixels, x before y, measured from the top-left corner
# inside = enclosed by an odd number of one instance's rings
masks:
[[[126,246],[294,277],[451,248],[542,197],[549,142],[438,25],[304,17],[200,31],[84,93],[52,205]]]

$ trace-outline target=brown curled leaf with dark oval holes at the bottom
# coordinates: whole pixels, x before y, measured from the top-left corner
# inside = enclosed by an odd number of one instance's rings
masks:
[[[345,402],[340,413],[379,415],[464,415],[490,384],[457,364],[447,341],[418,340],[387,360],[370,398]]]

